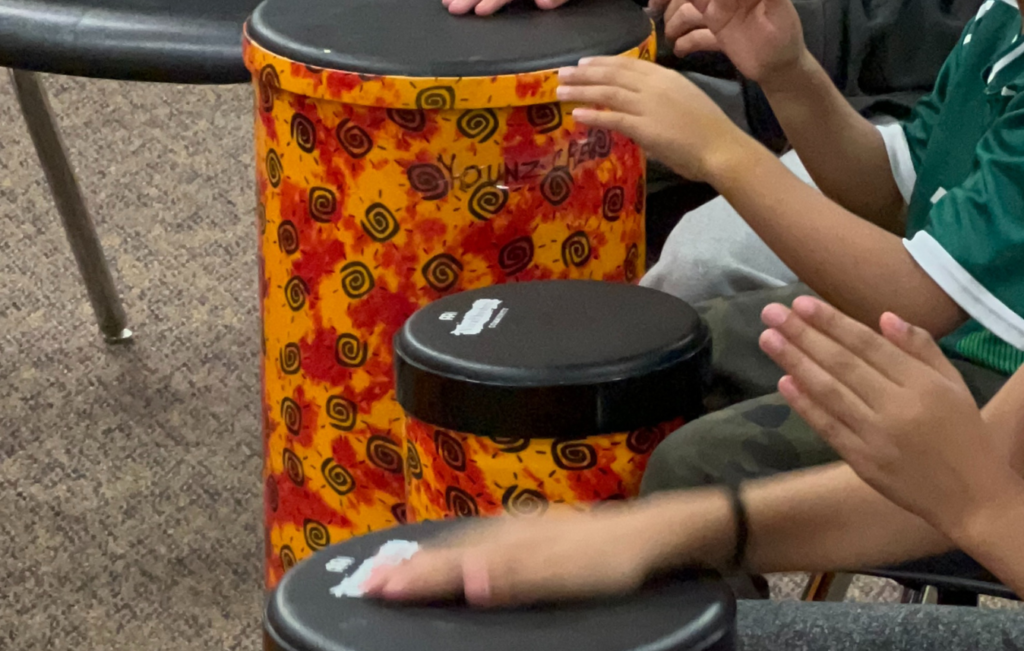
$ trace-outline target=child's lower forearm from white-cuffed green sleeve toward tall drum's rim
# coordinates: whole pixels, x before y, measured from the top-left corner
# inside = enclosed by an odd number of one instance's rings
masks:
[[[936,337],[966,320],[898,235],[806,185],[742,134],[709,164],[709,180],[798,277],[850,316],[877,328],[891,310]]]

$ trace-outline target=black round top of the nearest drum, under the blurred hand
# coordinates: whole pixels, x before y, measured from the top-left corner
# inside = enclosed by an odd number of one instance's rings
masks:
[[[477,610],[386,604],[331,589],[392,539],[419,541],[460,526],[426,523],[352,538],[292,569],[266,610],[282,651],[691,651],[731,648],[735,603],[723,583],[664,577],[638,594],[552,606]],[[328,564],[352,562],[342,572]],[[332,563],[336,568],[338,561]],[[344,563],[340,563],[344,565]]]

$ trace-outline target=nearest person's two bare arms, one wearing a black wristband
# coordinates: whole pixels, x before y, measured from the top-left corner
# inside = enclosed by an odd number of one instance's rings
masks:
[[[1024,371],[979,409],[929,334],[895,314],[882,314],[880,335],[802,297],[792,310],[769,305],[763,320],[761,346],[786,373],[782,395],[846,463],[737,493],[677,490],[480,521],[378,569],[368,594],[524,604],[627,593],[674,567],[828,571],[959,548],[1024,595]]]

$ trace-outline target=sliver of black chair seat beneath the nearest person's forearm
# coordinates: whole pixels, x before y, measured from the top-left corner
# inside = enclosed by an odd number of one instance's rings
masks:
[[[872,576],[891,578],[901,585],[922,590],[934,585],[939,591],[988,595],[1018,600],[1019,597],[999,582],[973,558],[963,552],[911,561],[897,567],[863,572]]]

